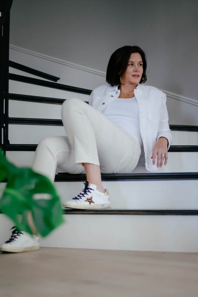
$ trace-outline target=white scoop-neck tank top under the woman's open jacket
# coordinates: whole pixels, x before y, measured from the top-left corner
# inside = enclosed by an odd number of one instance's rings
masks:
[[[114,99],[102,113],[113,121],[118,127],[126,131],[136,143],[142,146],[140,133],[139,106],[135,97],[129,99]]]

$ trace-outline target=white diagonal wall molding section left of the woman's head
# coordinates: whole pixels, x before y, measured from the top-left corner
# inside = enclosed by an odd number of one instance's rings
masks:
[[[102,71],[99,71],[99,70],[96,70],[96,69],[92,69],[92,68],[88,68],[88,67],[84,67],[84,66],[74,64],[74,63],[71,63],[71,62],[68,62],[68,61],[64,61],[64,60],[61,60],[61,59],[53,58],[53,57],[43,55],[43,54],[40,54],[40,53],[37,53],[37,52],[33,52],[32,50],[27,50],[25,48],[20,48],[20,47],[18,47],[16,45],[13,45],[13,44],[10,44],[9,48],[11,48],[12,50],[17,50],[17,51],[22,52],[22,53],[26,53],[26,54],[31,55],[31,56],[35,56],[35,57],[39,57],[39,58],[42,58],[42,59],[45,59],[45,60],[48,60],[48,61],[52,61],[52,62],[55,62],[55,63],[58,63],[58,64],[62,64],[62,65],[69,66],[69,67],[72,67],[72,68],[76,68],[76,69],[80,69],[80,70],[87,71],[87,72],[90,72],[90,73],[94,73],[96,75],[100,75],[100,76],[104,76],[104,77],[106,76],[105,72],[102,72]]]

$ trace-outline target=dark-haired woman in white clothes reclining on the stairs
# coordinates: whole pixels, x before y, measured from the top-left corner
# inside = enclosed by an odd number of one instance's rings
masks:
[[[61,116],[67,136],[50,137],[39,143],[33,169],[52,182],[57,166],[73,174],[86,173],[84,190],[64,202],[64,207],[110,208],[101,173],[132,172],[141,148],[148,171],[167,164],[172,136],[166,95],[154,87],[142,85],[147,80],[146,67],[146,56],[141,48],[117,49],[107,66],[109,85],[94,89],[89,105],[75,98],[63,103]],[[32,222],[31,227],[36,232]],[[22,236],[13,232],[12,245],[13,241],[17,244],[16,237],[20,241]],[[25,239],[29,236],[22,234]],[[30,248],[38,244],[36,238],[34,240],[35,243],[30,240]],[[9,244],[10,240],[3,245],[7,245],[7,251]]]

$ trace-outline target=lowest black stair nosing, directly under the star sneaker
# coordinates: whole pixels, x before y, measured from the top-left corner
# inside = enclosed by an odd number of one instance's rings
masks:
[[[68,209],[64,214],[106,214],[106,215],[198,215],[198,209]]]

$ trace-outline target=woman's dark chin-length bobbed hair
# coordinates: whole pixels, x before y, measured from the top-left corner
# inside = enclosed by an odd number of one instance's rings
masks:
[[[117,50],[115,50],[115,52],[110,56],[109,63],[107,65],[106,82],[109,83],[111,86],[121,85],[120,77],[125,73],[128,66],[129,58],[132,53],[139,53],[142,57],[143,73],[140,83],[145,83],[145,81],[147,80],[147,59],[145,53],[141,48],[139,48],[139,46],[125,45],[122,48],[118,48]]]

